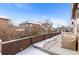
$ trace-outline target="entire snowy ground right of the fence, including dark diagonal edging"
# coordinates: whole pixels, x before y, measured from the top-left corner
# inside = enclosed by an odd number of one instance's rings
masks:
[[[16,55],[79,55],[79,51],[61,47],[61,35],[35,43]]]

